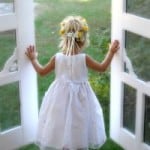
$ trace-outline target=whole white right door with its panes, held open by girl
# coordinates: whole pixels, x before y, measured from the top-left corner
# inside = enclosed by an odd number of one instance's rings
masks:
[[[149,0],[112,0],[120,51],[111,68],[110,134],[125,150],[150,150],[149,7]]]

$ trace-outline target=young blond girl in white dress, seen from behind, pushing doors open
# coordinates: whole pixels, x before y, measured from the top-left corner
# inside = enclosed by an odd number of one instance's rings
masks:
[[[68,16],[60,26],[60,49],[46,66],[37,60],[34,46],[26,55],[40,75],[55,70],[39,113],[37,144],[42,150],[97,149],[106,141],[102,108],[88,82],[87,68],[103,72],[119,48],[114,41],[102,63],[83,52],[88,25],[80,16]]]

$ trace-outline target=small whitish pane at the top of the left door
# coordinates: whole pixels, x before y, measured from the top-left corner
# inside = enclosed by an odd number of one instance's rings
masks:
[[[0,0],[0,14],[14,12],[14,0]]]

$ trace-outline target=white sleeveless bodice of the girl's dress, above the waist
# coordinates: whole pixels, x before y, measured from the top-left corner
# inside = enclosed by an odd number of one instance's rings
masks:
[[[85,54],[66,56],[63,53],[57,53],[55,56],[56,79],[72,82],[87,81],[87,67]]]

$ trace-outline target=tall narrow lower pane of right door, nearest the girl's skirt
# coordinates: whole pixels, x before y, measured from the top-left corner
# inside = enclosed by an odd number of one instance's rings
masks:
[[[135,133],[136,90],[124,84],[123,127]]]

